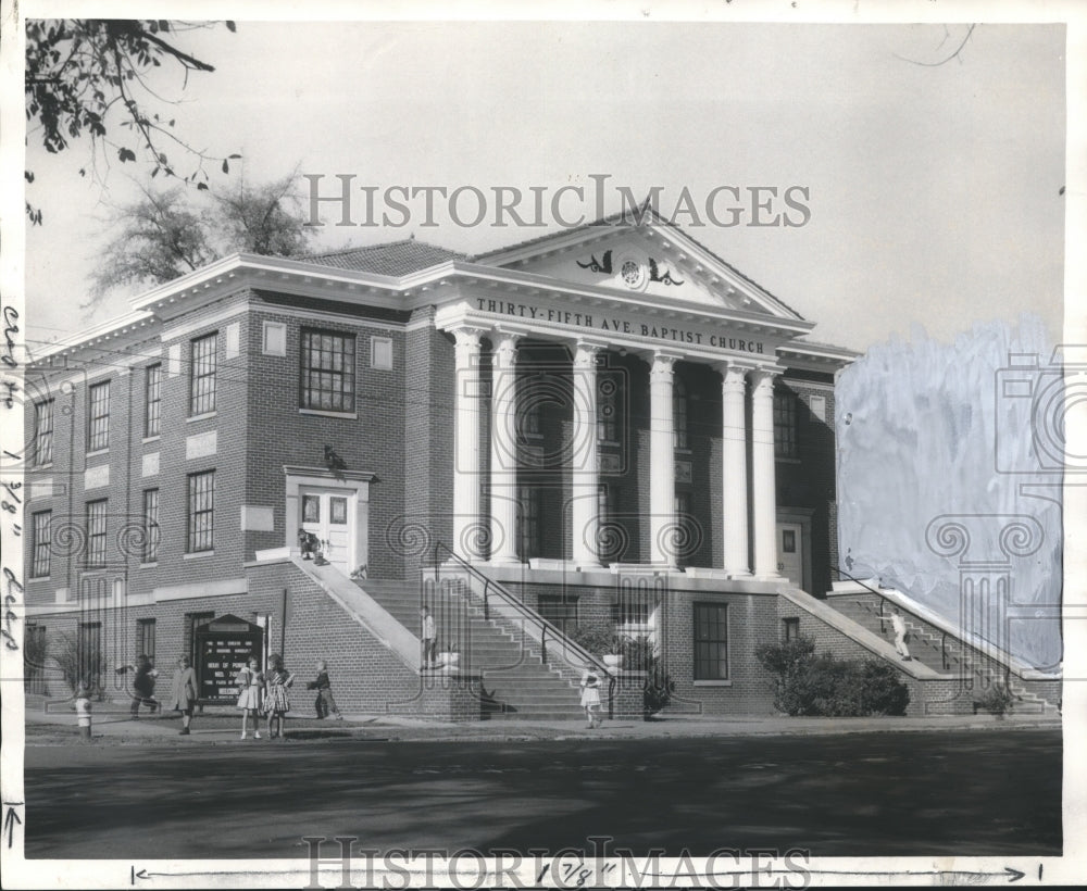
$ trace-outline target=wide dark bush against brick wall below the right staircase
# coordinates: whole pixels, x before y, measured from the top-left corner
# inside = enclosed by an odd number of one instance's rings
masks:
[[[904,715],[910,691],[895,669],[876,660],[815,655],[815,641],[763,643],[755,658],[774,674],[774,707],[792,716]]]

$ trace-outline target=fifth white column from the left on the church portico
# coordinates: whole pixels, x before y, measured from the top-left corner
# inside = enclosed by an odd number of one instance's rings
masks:
[[[748,566],[747,415],[745,369],[732,363],[721,372],[722,514],[725,524],[725,572],[734,578],[751,575]]]

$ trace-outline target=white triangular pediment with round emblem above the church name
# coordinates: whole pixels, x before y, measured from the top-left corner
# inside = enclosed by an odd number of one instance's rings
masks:
[[[658,218],[637,225],[584,226],[477,258],[477,263],[646,294],[703,309],[801,316],[682,229]]]

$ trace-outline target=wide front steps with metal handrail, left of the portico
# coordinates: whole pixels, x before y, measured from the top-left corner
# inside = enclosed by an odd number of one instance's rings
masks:
[[[416,636],[420,607],[429,607],[438,652],[455,643],[460,670],[482,676],[485,718],[583,717],[580,673],[559,658],[545,665],[539,644],[525,629],[498,615],[486,618],[482,600],[463,581],[450,579],[440,588],[397,579],[362,579],[357,585]]]

